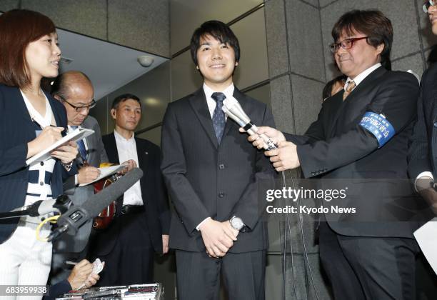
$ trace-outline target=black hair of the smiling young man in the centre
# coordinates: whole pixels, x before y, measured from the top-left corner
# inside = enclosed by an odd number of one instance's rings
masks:
[[[214,39],[217,39],[223,44],[229,44],[235,53],[235,61],[240,61],[240,44],[238,44],[238,39],[235,34],[233,34],[233,31],[223,22],[211,20],[201,24],[201,26],[194,31],[193,36],[191,36],[191,58],[196,66],[198,64],[197,51],[201,46],[200,40],[207,35],[214,37]]]

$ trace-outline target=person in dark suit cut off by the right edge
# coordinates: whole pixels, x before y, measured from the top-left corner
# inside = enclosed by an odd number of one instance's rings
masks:
[[[423,4],[431,21],[433,34],[437,35],[437,5],[434,1]],[[408,171],[415,179],[416,191],[423,196],[434,214],[437,214],[436,179],[437,157],[437,64],[431,64],[423,73],[421,92],[418,99],[417,123],[413,129],[413,139],[409,153]]]

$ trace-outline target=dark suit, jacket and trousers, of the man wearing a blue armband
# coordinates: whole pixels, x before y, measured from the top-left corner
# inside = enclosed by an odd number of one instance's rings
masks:
[[[351,179],[345,182],[361,191],[348,202],[358,213],[326,215],[328,224],[323,222],[320,230],[321,261],[336,299],[413,299],[418,248],[412,233],[418,223],[399,219],[391,211],[394,202],[408,207],[411,198],[398,199],[391,189],[371,181],[408,178],[406,156],[416,117],[417,79],[379,67],[345,101],[343,92],[323,102],[317,121],[304,136],[286,135],[298,145],[306,178]],[[367,111],[386,116],[396,131],[380,148],[376,137],[359,125]],[[404,186],[407,194],[413,194],[408,184]]]

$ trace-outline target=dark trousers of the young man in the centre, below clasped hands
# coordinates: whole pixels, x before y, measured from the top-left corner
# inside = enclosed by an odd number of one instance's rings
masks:
[[[266,251],[228,253],[213,259],[206,252],[176,250],[179,300],[217,300],[220,278],[229,300],[263,300]]]

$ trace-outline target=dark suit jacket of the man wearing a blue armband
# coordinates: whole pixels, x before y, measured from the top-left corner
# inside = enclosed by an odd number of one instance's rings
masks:
[[[333,179],[323,182],[348,188],[346,199],[331,204],[356,208],[356,213],[326,215],[336,233],[413,238],[413,231],[420,225],[415,221],[416,213],[422,204],[413,197],[407,180],[417,79],[381,66],[358,84],[345,101],[343,92],[323,102],[318,119],[306,134],[286,134],[286,139],[297,144],[306,178]],[[379,148],[376,137],[358,125],[367,111],[386,116],[396,131]]]

